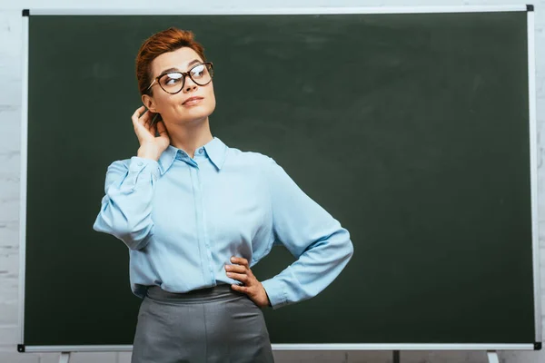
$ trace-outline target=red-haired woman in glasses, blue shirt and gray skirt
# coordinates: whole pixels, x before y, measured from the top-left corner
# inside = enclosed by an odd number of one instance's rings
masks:
[[[272,362],[261,308],[322,291],[351,259],[350,235],[270,157],[213,137],[213,64],[191,32],[147,39],[136,76],[140,147],[108,167],[94,222],[130,249],[143,299],[132,362]],[[259,281],[251,267],[273,243],[297,260]]]

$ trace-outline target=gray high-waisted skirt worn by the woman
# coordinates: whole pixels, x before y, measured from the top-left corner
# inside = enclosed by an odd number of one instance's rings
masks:
[[[131,363],[269,363],[263,311],[230,285],[187,293],[150,287],[138,312]]]

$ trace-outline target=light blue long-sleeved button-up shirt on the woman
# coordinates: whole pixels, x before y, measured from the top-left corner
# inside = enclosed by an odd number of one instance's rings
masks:
[[[127,245],[140,298],[149,285],[187,292],[240,283],[225,274],[231,257],[252,267],[280,243],[297,260],[262,281],[277,309],[317,295],[352,257],[349,232],[272,158],[218,138],[193,158],[171,145],[159,162],[113,162],[104,189],[93,228]]]

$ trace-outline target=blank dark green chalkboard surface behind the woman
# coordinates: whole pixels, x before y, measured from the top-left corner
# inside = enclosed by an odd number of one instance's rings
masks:
[[[135,55],[177,26],[214,64],[213,135],[272,156],[352,235],[322,294],[266,309],[272,343],[533,344],[527,15],[31,11],[23,343],[132,344],[128,250],[92,225],[106,167],[138,147]]]

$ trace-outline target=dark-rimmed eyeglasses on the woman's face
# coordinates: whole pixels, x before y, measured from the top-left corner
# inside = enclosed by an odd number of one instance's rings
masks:
[[[198,85],[206,85],[212,81],[213,65],[212,62],[204,62],[195,64],[188,72],[169,72],[155,77],[154,82],[147,88],[152,88],[154,83],[159,83],[163,91],[166,93],[179,93],[185,84],[185,76],[188,75],[191,80]]]

